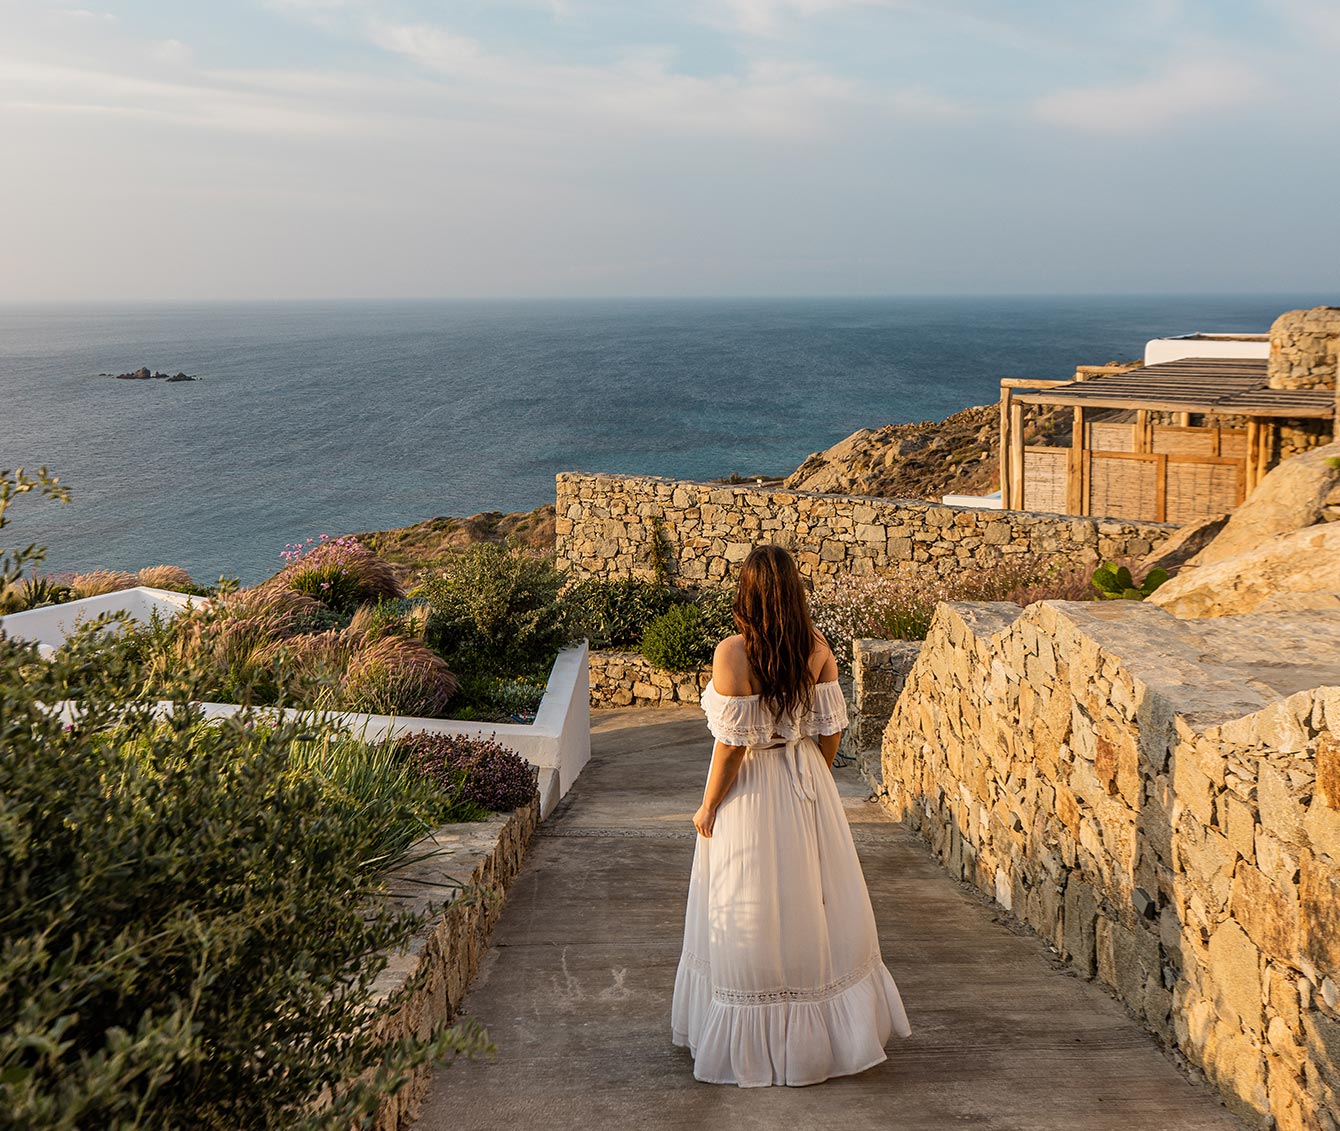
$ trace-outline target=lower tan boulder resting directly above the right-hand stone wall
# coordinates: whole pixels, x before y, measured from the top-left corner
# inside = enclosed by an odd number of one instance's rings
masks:
[[[1278,602],[1302,600],[1306,594],[1329,607],[1325,595],[1335,592],[1340,592],[1340,523],[1323,523],[1276,535],[1237,557],[1189,566],[1148,602],[1181,618],[1233,616],[1256,612],[1268,599],[1280,607]]]

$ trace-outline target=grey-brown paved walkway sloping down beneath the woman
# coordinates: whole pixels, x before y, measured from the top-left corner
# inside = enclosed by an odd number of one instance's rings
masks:
[[[1242,1131],[1099,986],[954,883],[839,772],[913,1036],[809,1088],[699,1084],[670,992],[710,746],[695,710],[600,712],[465,1010],[492,1061],[440,1069],[418,1131]]]

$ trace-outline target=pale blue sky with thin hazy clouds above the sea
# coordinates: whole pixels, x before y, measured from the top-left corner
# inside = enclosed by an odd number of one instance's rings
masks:
[[[1329,292],[1335,0],[0,0],[0,302]]]

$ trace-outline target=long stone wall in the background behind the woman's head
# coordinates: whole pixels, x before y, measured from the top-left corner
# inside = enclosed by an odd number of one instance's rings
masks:
[[[1175,529],[639,476],[557,477],[559,564],[579,578],[654,578],[659,563],[675,580],[720,582],[760,541],[791,547],[816,579],[951,576],[1025,555],[1095,566],[1143,557]]]

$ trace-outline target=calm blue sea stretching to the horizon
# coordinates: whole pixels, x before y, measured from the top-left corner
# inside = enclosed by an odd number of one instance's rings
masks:
[[[1333,297],[1333,296],[1332,296]],[[1147,338],[1325,296],[0,307],[0,547],[259,580],[284,544],[553,498],[559,470],[783,473],[858,427],[996,401]],[[200,374],[193,385],[100,371]]]

